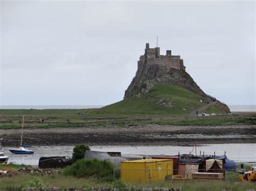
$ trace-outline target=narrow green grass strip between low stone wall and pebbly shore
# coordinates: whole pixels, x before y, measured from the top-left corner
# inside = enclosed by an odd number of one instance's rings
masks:
[[[127,118],[129,119],[129,118]],[[93,126],[131,126],[131,125],[147,125],[147,124],[158,124],[158,125],[236,125],[236,124],[256,124],[255,117],[241,117],[241,116],[210,116],[210,117],[186,117],[181,119],[161,119],[161,117],[156,117],[156,119],[151,118],[132,118],[132,120],[119,121],[119,118],[113,121],[108,121],[104,119],[103,121],[86,122],[78,121],[70,123],[54,123],[51,122],[38,124],[38,123],[28,123],[24,124],[24,128],[86,128]],[[0,123],[0,129],[21,129],[20,123]]]

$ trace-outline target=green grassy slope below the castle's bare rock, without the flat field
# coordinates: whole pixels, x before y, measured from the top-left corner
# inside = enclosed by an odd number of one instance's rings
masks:
[[[203,103],[200,102],[203,100]],[[174,84],[156,84],[149,93],[126,98],[100,109],[89,109],[87,116],[188,115],[206,104],[204,97]]]

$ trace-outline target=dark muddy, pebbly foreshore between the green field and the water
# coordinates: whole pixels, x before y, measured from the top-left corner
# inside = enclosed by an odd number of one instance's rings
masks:
[[[0,130],[3,146],[18,146],[21,130]],[[24,129],[29,145],[193,145],[256,143],[256,125]]]

